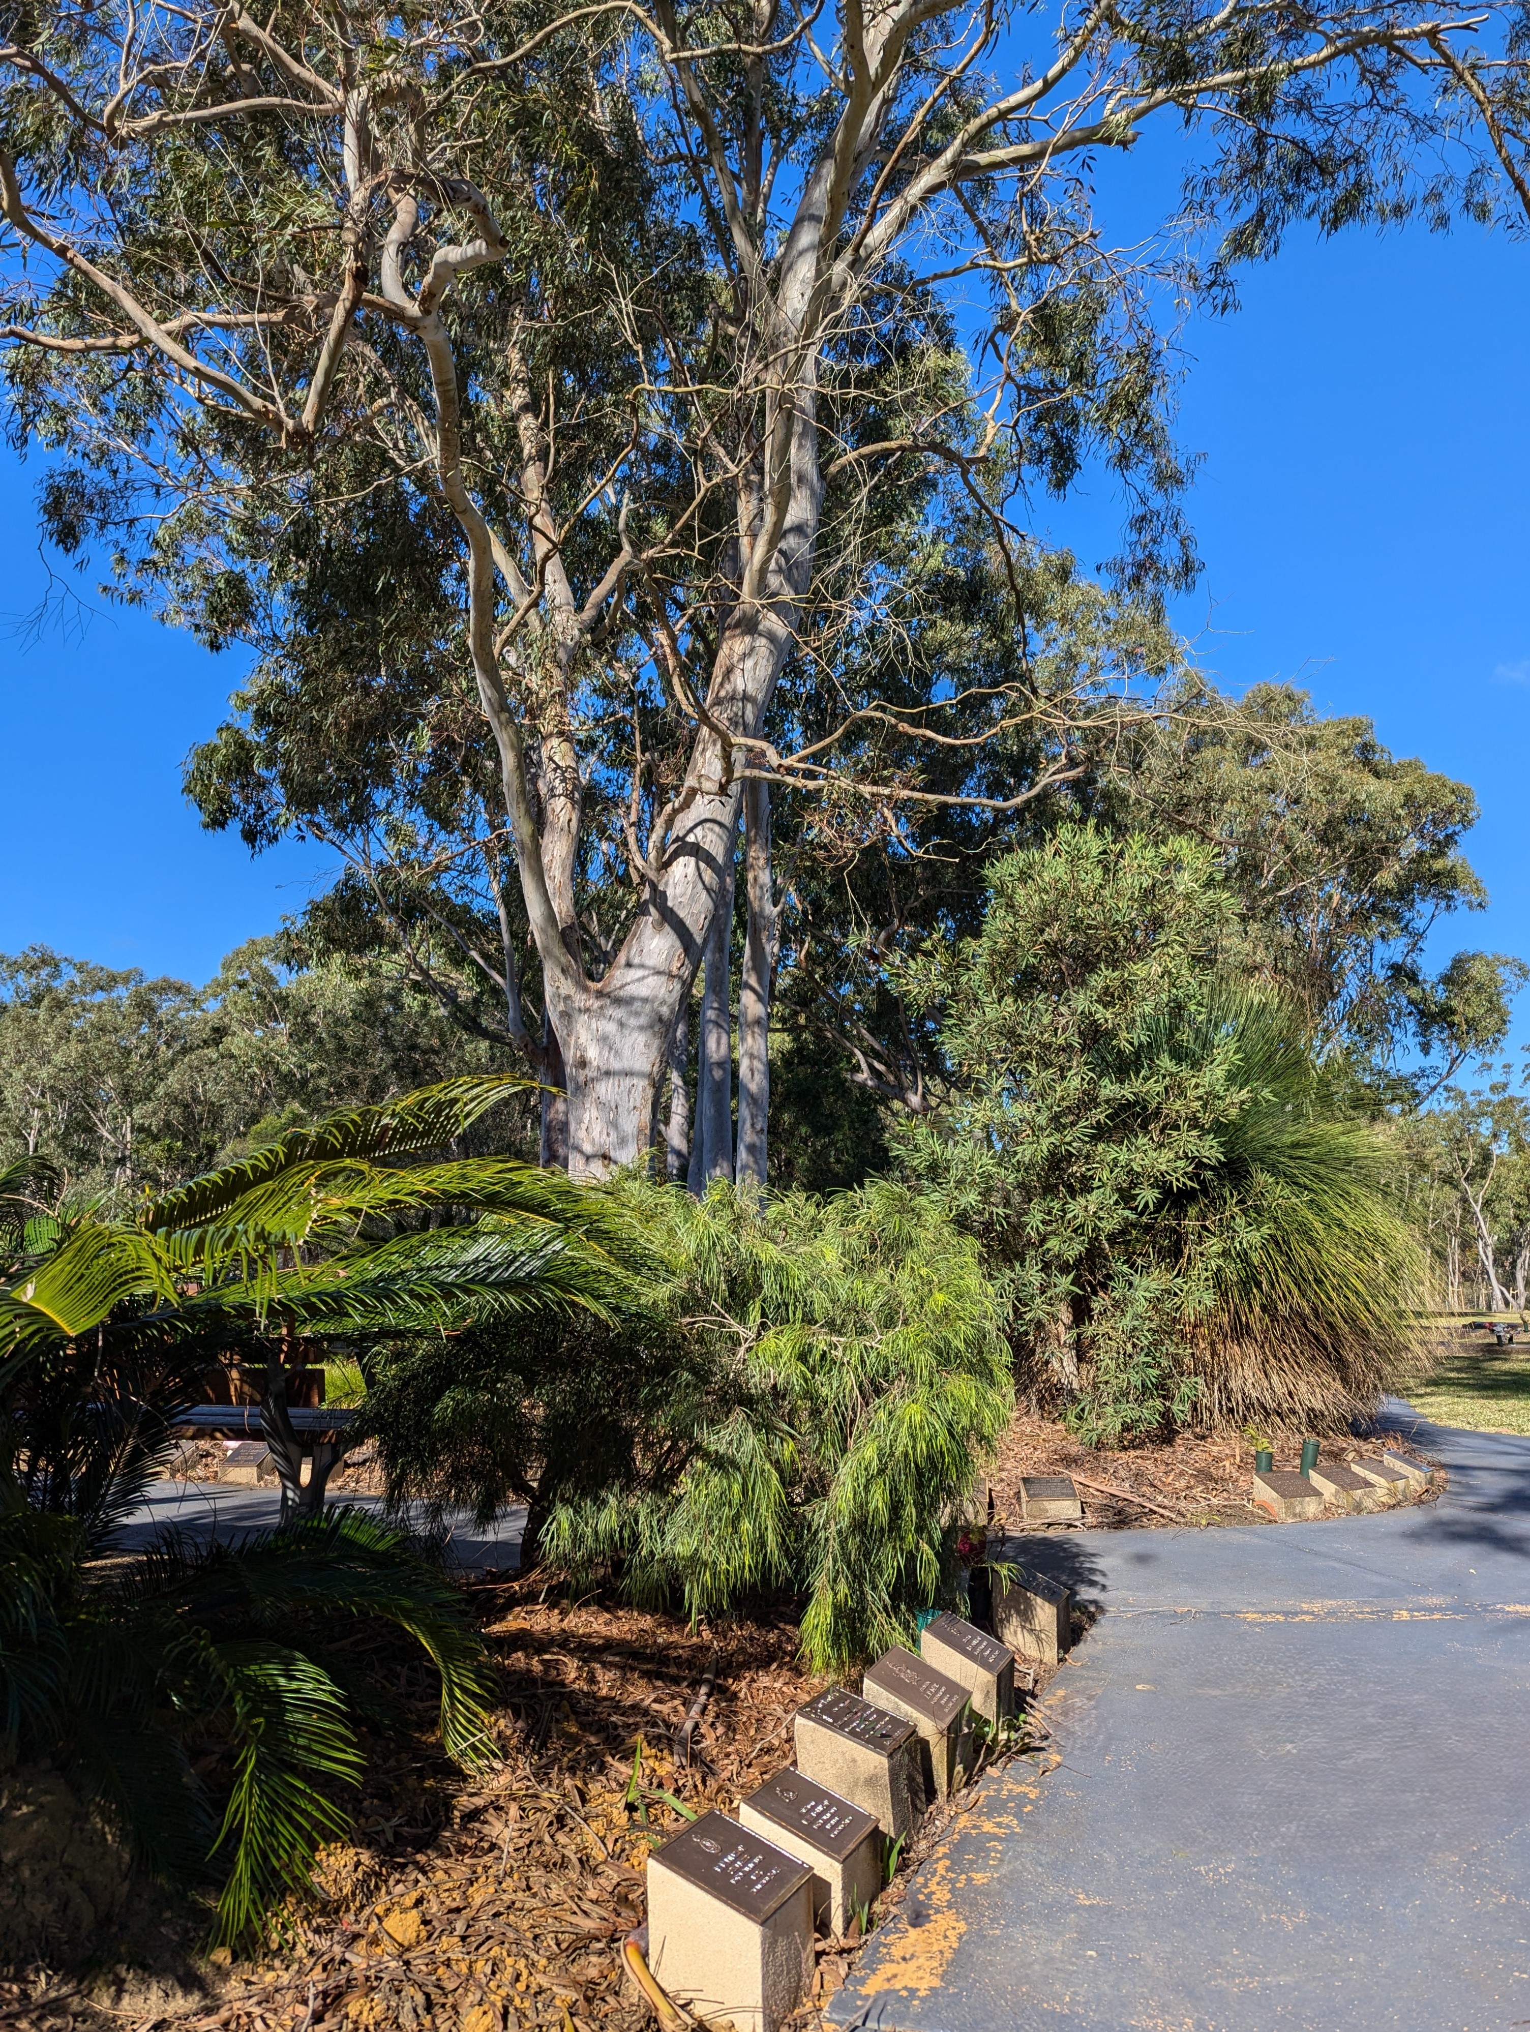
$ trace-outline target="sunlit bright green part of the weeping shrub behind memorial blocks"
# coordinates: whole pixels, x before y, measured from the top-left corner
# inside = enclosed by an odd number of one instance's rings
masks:
[[[707,1349],[731,1402],[697,1420],[679,1475],[559,1502],[549,1554],[575,1573],[620,1561],[632,1597],[691,1615],[792,1589],[823,1670],[906,1642],[1012,1410],[977,1248],[888,1183],[766,1203],[622,1191],[664,1258],[671,1333]]]

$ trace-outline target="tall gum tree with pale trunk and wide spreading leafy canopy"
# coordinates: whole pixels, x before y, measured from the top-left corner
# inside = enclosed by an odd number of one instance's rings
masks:
[[[311,774],[400,666],[471,673],[451,738],[492,754],[569,1166],[603,1174],[648,1144],[742,807],[762,845],[772,788],[894,827],[965,795],[878,776],[886,707],[835,691],[906,534],[965,502],[1002,583],[1026,488],[1103,455],[1128,583],[1185,583],[1156,305],[1292,217],[1489,205],[1493,26],[1404,0],[8,0],[16,429],[65,453],[55,538],[110,536],[130,597],[256,646],[347,618]],[[1199,274],[1144,252],[1154,124],[1223,236]],[[1107,163],[1142,185],[1132,254]],[[788,664],[823,677],[813,715],[774,701]],[[933,752],[1038,709],[1020,658],[898,717]],[[1071,766],[1065,734],[1042,778]],[[599,937],[581,882],[620,898]]]

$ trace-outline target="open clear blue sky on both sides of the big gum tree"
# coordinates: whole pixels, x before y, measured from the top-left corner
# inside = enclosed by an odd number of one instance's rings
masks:
[[[1530,244],[1353,234],[1296,244],[1241,289],[1235,317],[1187,331],[1181,435],[1205,453],[1191,510],[1207,573],[1181,626],[1225,685],[1294,679],[1465,778],[1493,902],[1447,927],[1439,955],[1530,955]],[[0,616],[28,614],[47,583],[35,478],[0,451]],[[1113,522],[1091,498],[1053,532],[1093,561]],[[240,664],[98,610],[83,636],[0,638],[0,949],[205,979],[301,906],[325,858],[250,862],[199,829],[179,768]]]

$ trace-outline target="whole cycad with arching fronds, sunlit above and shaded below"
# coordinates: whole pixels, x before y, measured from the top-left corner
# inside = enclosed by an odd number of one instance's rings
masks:
[[[278,1378],[333,1339],[366,1361],[382,1341],[601,1311],[622,1282],[601,1201],[437,1154],[506,1085],[331,1116],[134,1219],[20,1233],[0,1286],[0,1748],[61,1764],[150,1867],[215,1888],[226,1941],[345,1825],[356,1723],[380,1699],[347,1630],[425,1648],[465,1764],[492,1754],[482,1646],[443,1575],[354,1510],[108,1554],[221,1357]]]

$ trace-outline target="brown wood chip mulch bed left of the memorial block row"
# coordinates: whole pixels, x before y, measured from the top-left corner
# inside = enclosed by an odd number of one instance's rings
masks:
[[[790,1762],[792,1715],[825,1682],[801,1668],[786,1620],[691,1630],[666,1613],[569,1603],[534,1579],[477,1583],[469,1599],[502,1670],[496,1770],[465,1780],[441,1758],[429,1685],[400,1652],[410,1727],[372,1739],[354,1843],[323,1853],[317,1894],[282,1914],[258,1959],[189,1957],[179,1983],[35,1971],[0,1983],[6,2032],[650,2026],[622,1941],[644,1916],[646,1855],[683,1825],[671,1800],[734,1808]],[[687,1766],[675,1733],[709,1668],[715,1691]],[[902,1900],[949,1817],[927,1815],[882,1910]],[[819,1943],[803,2026],[855,1951],[853,1939]]]

